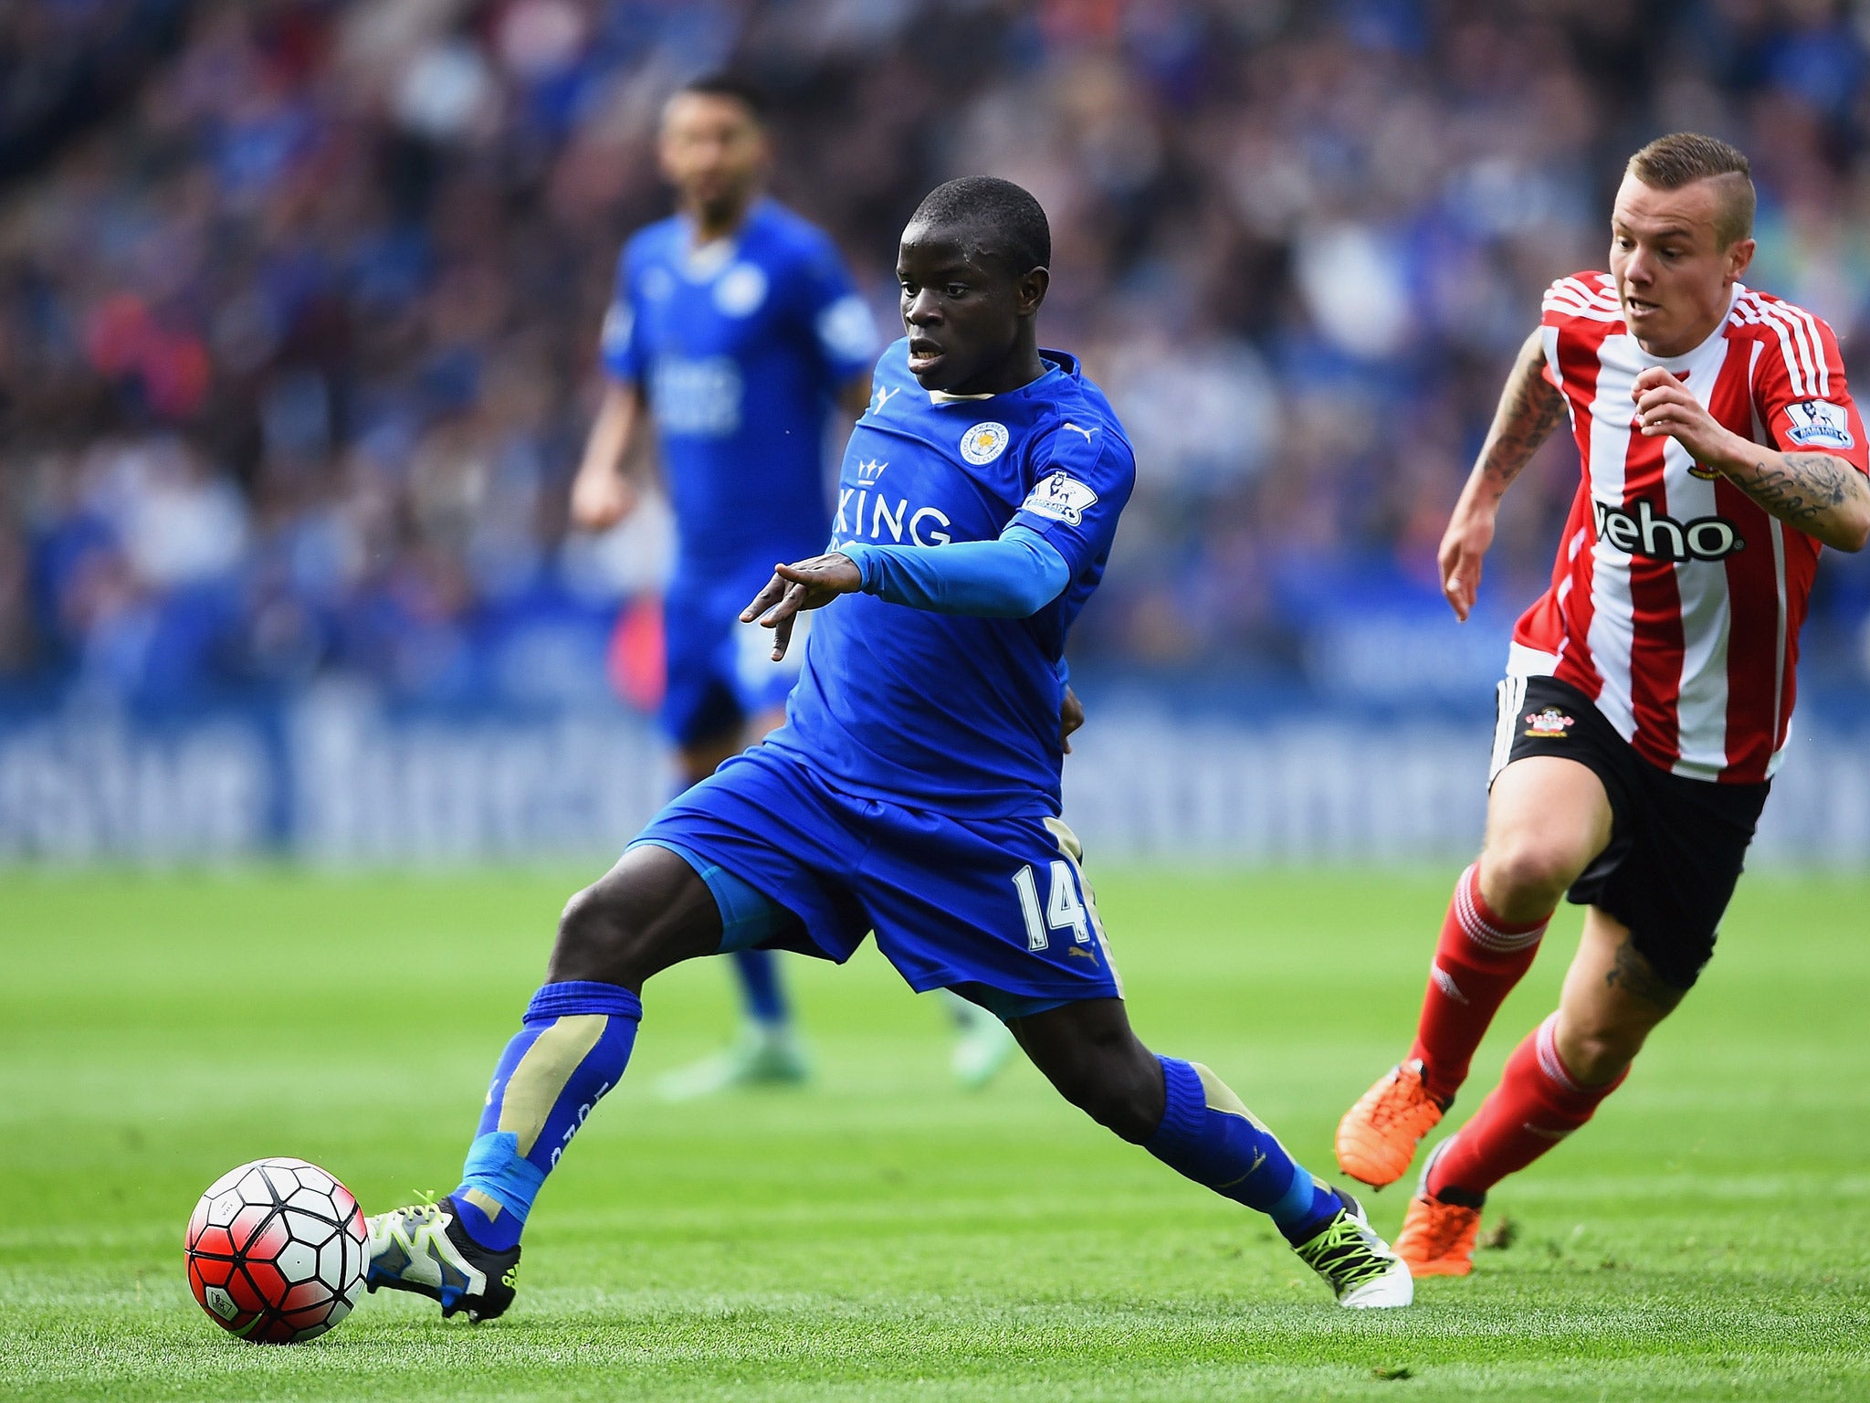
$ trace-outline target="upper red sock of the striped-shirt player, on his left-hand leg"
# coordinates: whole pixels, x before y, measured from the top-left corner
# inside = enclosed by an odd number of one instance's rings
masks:
[[[1552,913],[1515,926],[1496,917],[1481,898],[1481,864],[1460,874],[1455,896],[1442,917],[1442,939],[1429,965],[1429,991],[1421,1001],[1421,1021],[1416,1025],[1416,1046],[1410,1057],[1421,1059],[1423,1085],[1438,1100],[1453,1100],[1468,1079],[1468,1063],[1481,1046],[1487,1025],[1500,1012],[1500,1003],[1532,969],[1539,954]]]

